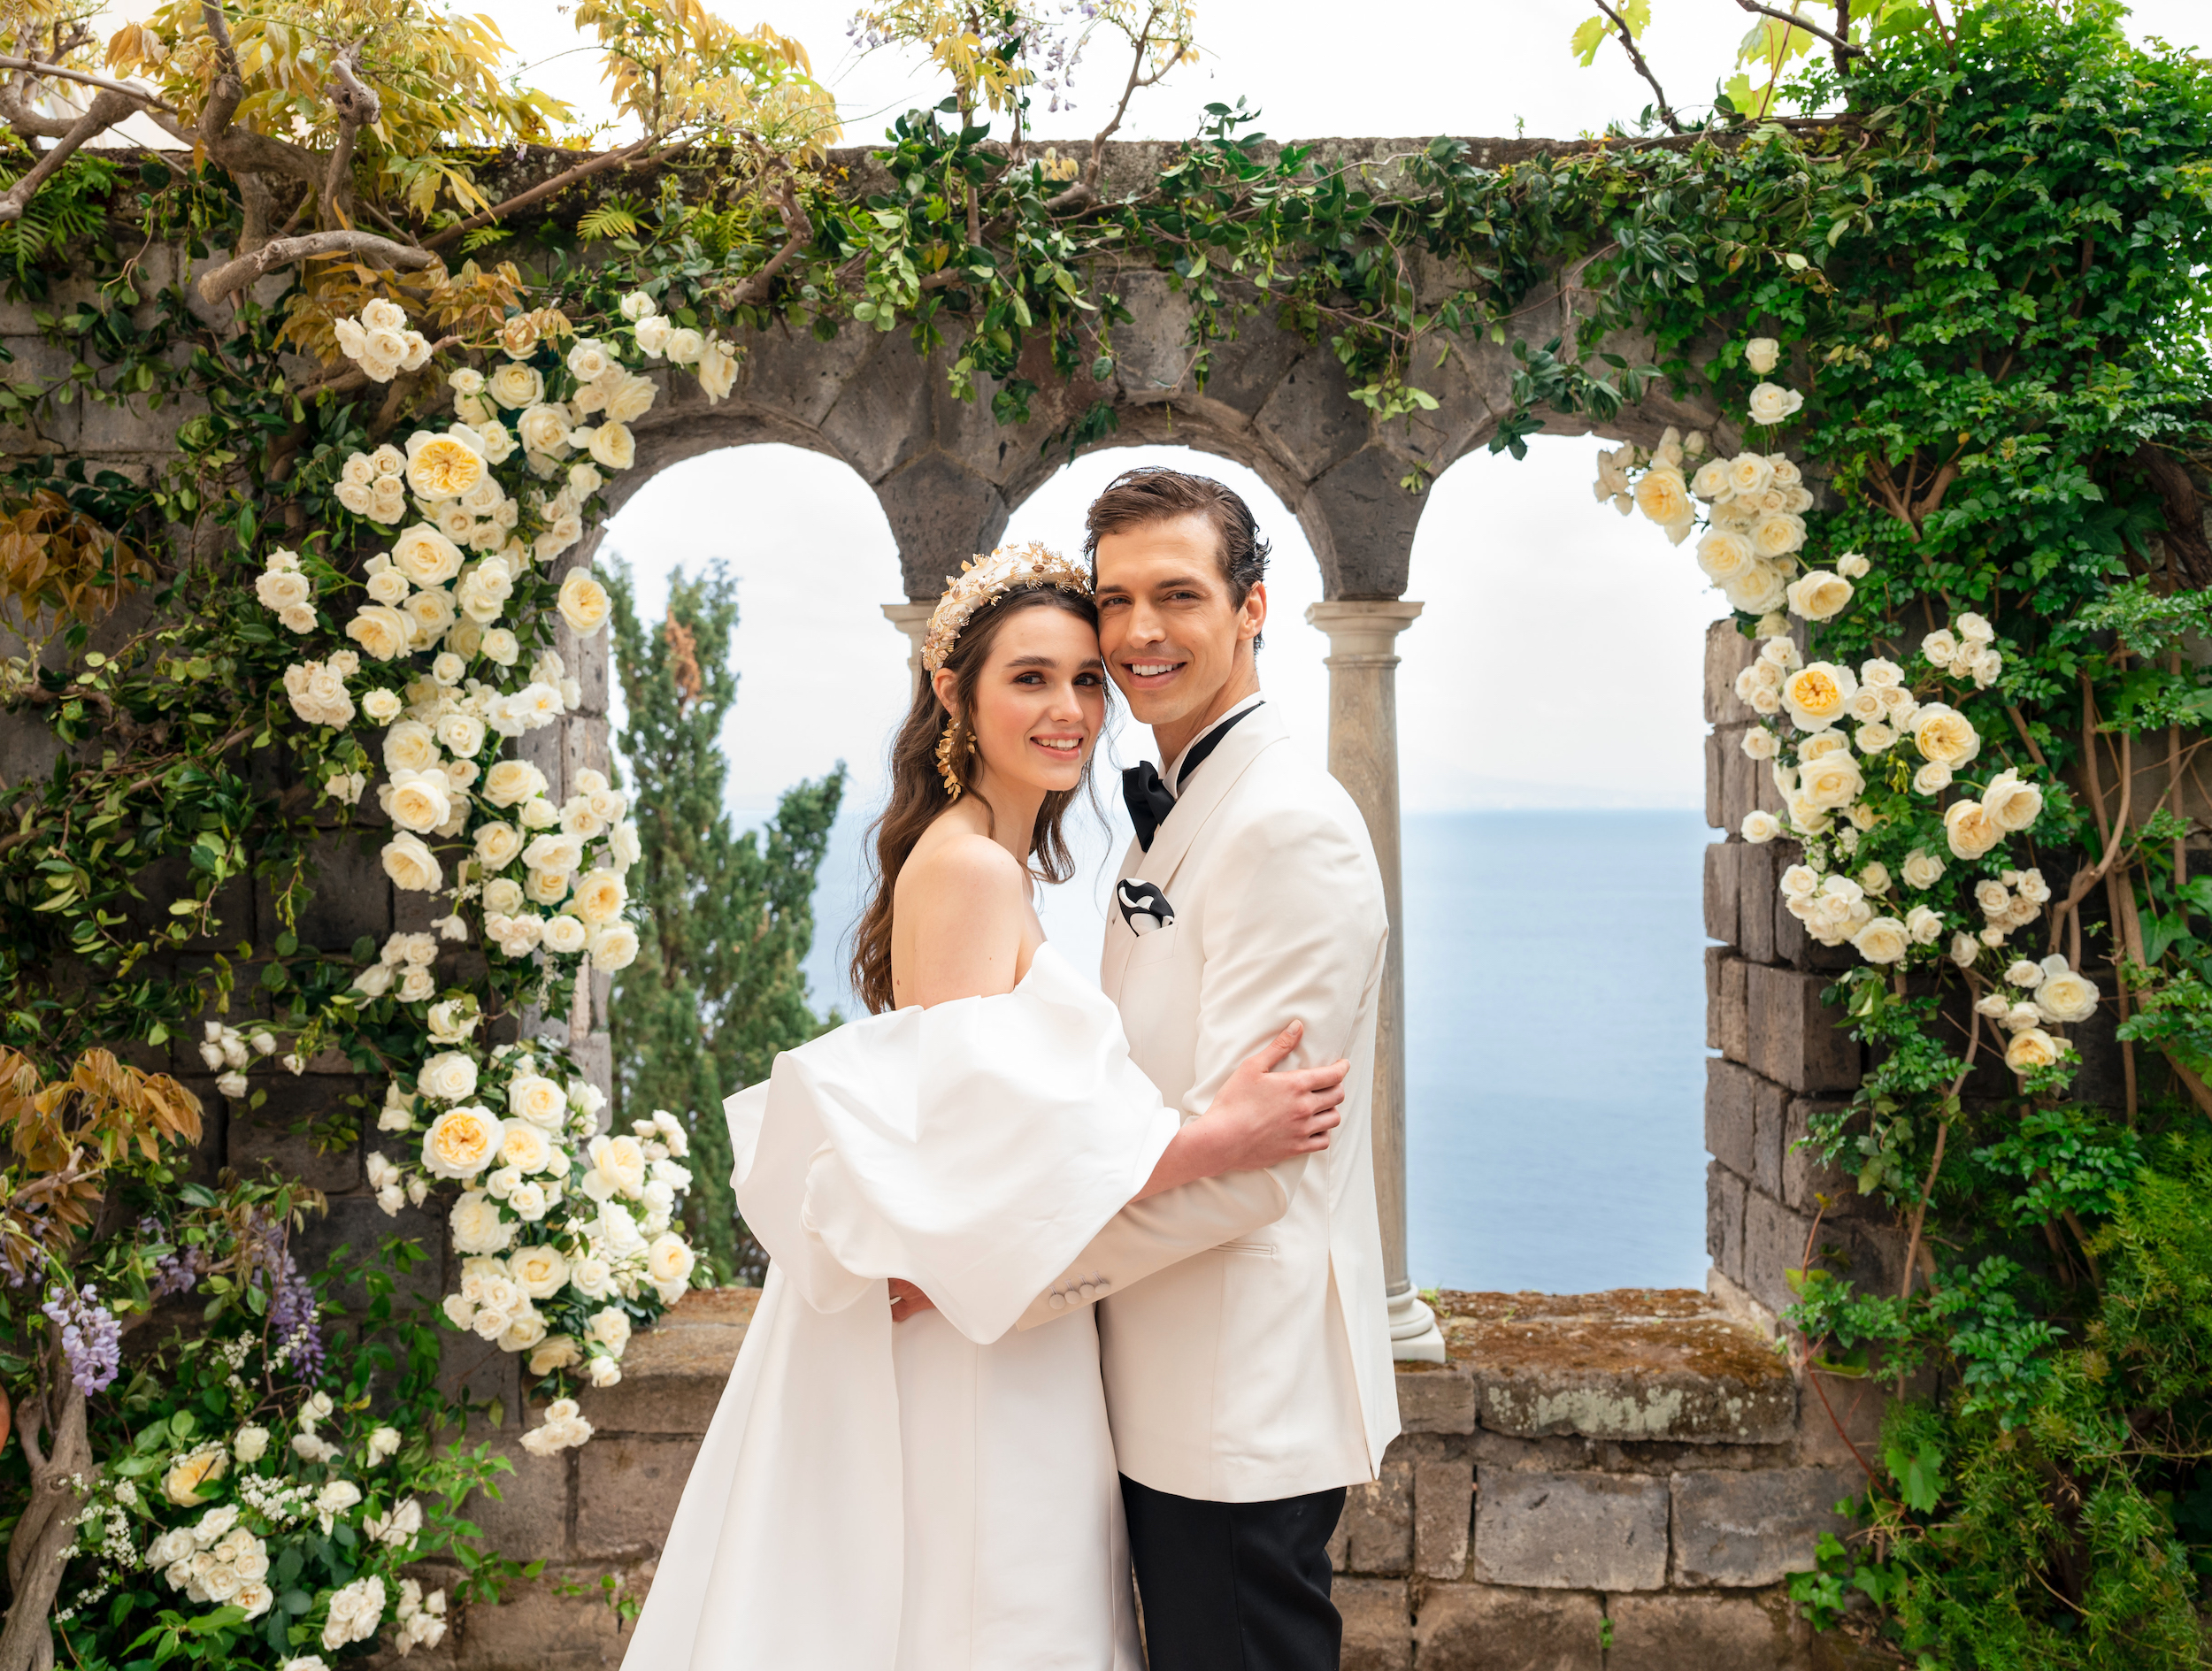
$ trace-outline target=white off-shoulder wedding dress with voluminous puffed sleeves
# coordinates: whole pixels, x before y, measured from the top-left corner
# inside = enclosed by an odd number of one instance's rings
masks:
[[[1141,1671],[1093,1309],[1009,1333],[1179,1125],[1115,1006],[1042,946],[726,1112],[768,1286],[624,1671]]]

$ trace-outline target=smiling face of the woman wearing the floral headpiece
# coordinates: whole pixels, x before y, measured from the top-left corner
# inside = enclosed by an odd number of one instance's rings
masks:
[[[956,701],[949,672],[938,696]],[[975,679],[973,714],[982,774],[1042,791],[1075,789],[1106,725],[1106,663],[1097,632],[1068,610],[1024,608],[991,639]],[[978,780],[978,787],[984,787]]]

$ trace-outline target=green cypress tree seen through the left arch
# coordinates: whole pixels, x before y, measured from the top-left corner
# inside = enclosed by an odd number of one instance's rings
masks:
[[[765,829],[739,833],[723,807],[721,752],[739,679],[737,579],[721,561],[697,579],[675,570],[666,619],[648,626],[628,566],[611,568],[626,707],[617,747],[641,849],[630,893],[648,913],[637,961],[615,975],[615,1114],[633,1121],[666,1107],[684,1121],[690,1242],[721,1280],[759,1282],[765,1260],[730,1191],[721,1099],[765,1079],[779,1050],[838,1021],[834,1010],[814,1015],[801,964],[845,763],[785,789]]]

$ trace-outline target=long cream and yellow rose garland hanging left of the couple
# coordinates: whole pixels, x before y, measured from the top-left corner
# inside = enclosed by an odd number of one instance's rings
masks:
[[[732,389],[730,343],[670,325],[644,292],[619,314],[641,360],[690,367],[710,402]],[[389,301],[338,320],[336,336],[376,382],[420,362],[420,334]],[[254,592],[303,637],[327,630],[319,601],[363,595],[347,643],[288,668],[285,696],[310,727],[303,754],[323,794],[352,807],[376,776],[392,822],[385,875],[442,906],[429,931],[385,942],[285,1065],[299,1072],[314,1032],[374,1006],[420,1021],[420,1057],[396,1063],[378,1116],[378,1132],[418,1136],[418,1147],[398,1160],[369,1154],[369,1185],[387,1213],[438,1183],[462,1185],[451,1211],[462,1275],[442,1311],[453,1328],[529,1355],[535,1390],[553,1399],[524,1443],[546,1452],[591,1437],[566,1397],[571,1370],[615,1384],[630,1331],[675,1304],[697,1269],[672,1229],[690,1187],[684,1127],[655,1114],[630,1134],[599,1134],[604,1096],[568,1054],[542,1041],[482,1050],[484,995],[440,979],[438,961],[480,935],[535,1003],[555,1008],[588,970],[637,957],[628,796],[586,769],[555,802],[544,771],[504,749],[582,698],[551,645],[551,614],[591,637],[611,601],[586,568],[553,588],[544,566],[584,537],[606,473],[635,464],[630,422],[659,387],[624,365],[619,343],[575,336],[555,309],[509,316],[498,349],[493,369],[447,376],[451,420],[338,464],[330,491],[356,524],[341,522],[341,544],[389,537],[389,550],[358,581],[312,553],[272,550]],[[356,718],[380,727],[374,745]],[[223,1092],[246,1094],[246,1043],[210,1032],[208,1050],[226,1068]]]

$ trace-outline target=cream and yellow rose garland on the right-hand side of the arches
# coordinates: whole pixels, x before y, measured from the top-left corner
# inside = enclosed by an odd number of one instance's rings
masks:
[[[1781,345],[1752,338],[1743,358],[1765,376]],[[1752,427],[1772,435],[1805,398],[1759,382],[1747,404]],[[1922,637],[1909,668],[1887,656],[1856,670],[1805,661],[1790,617],[1836,619],[1871,564],[1843,553],[1832,570],[1801,572],[1814,495],[1798,464],[1778,451],[1697,464],[1703,453],[1703,435],[1674,429],[1648,453],[1617,446],[1599,455],[1595,497],[1621,515],[1644,511],[1677,546],[1703,528],[1697,566],[1732,610],[1756,617],[1750,632],[1763,643],[1736,674],[1736,696],[1761,723],[1743,734],[1743,752],[1772,769],[1785,816],[1754,809],[1741,836],[1803,842],[1801,862],[1781,875],[1783,908],[1823,946],[1847,944],[1876,966],[1902,970],[1949,957],[1966,973],[1975,1015],[2006,1034],[2004,1063],[2015,1074],[2077,1061],[2051,1028],[2093,1017],[2097,984],[2057,953],[2004,955],[2011,935],[2042,917],[2051,884],[2035,866],[1991,860],[2042,816],[2044,787],[2015,767],[1980,782],[1969,776],[1984,738],[1958,703],[2002,679],[1995,630],[1962,612]],[[1960,787],[1973,794],[1955,794]],[[1944,893],[1953,864],[1984,873],[1962,869]],[[1960,880],[1971,882],[1980,919],[1960,908]]]

